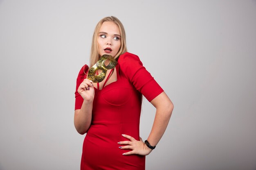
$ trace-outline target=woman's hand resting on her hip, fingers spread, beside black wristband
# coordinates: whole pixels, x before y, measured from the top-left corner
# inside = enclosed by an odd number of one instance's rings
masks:
[[[126,145],[126,146],[119,146],[119,148],[131,149],[131,151],[123,153],[123,155],[131,155],[131,154],[148,155],[152,151],[152,149],[148,148],[148,146],[146,146],[146,144],[142,141],[141,137],[139,137],[139,140],[136,140],[129,135],[122,135],[122,136],[129,139],[130,141],[118,142],[118,144],[120,145]]]

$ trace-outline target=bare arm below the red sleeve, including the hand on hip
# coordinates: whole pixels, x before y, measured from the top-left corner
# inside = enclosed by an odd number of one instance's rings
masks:
[[[168,98],[165,92],[162,92],[153,100],[151,104],[156,108],[155,120],[148,136],[148,142],[151,146],[156,146],[161,137],[164,135],[164,131],[168,125],[173,111],[173,103]],[[152,150],[144,144],[142,139],[137,141],[129,135],[123,135],[124,137],[130,139],[130,141],[122,141],[119,144],[127,144],[127,146],[122,146],[121,149],[132,149],[132,151],[124,153],[123,155],[139,154],[148,155]]]

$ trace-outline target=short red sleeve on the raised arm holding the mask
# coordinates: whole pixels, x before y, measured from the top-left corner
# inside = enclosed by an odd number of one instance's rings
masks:
[[[76,101],[75,101],[75,110],[76,109],[81,109],[82,107],[82,104],[83,104],[83,98],[82,96],[77,92],[77,89],[79,87],[79,85],[83,82],[83,80],[87,77],[87,74],[88,74],[88,70],[89,70],[89,67],[88,65],[84,65],[77,78],[76,78],[76,92],[75,92],[75,98],[76,98]]]

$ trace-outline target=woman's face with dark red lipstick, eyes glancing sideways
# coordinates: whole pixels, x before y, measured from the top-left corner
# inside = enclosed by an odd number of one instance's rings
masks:
[[[121,34],[117,24],[114,22],[103,22],[99,29],[98,50],[100,56],[103,54],[115,57],[121,46]]]

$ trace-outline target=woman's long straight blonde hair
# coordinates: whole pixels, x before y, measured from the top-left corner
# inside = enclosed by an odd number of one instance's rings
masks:
[[[116,56],[114,56],[114,57],[117,57],[117,56],[127,52],[126,35],[125,35],[123,24],[121,23],[120,20],[117,19],[117,17],[114,17],[114,16],[104,17],[96,25],[93,36],[92,36],[90,67],[92,67],[92,65],[94,65],[99,60],[99,57],[100,57],[99,52],[98,52],[98,43],[97,43],[97,41],[98,41],[98,36],[99,36],[99,29],[101,28],[101,25],[103,24],[103,22],[114,22],[115,24],[117,24],[118,29],[121,33],[121,46],[120,46],[119,51],[117,52]]]

